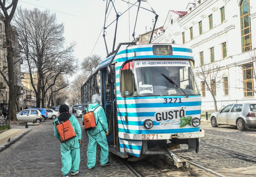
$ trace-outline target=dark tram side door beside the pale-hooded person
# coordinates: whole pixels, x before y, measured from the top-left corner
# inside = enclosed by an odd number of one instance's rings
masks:
[[[113,85],[107,83],[107,69],[101,71],[101,83],[102,83],[102,106],[106,113],[108,122],[109,135],[107,136],[108,144],[114,144],[114,134],[113,134]],[[111,109],[112,108],[112,109]],[[110,117],[111,116],[111,117]]]

